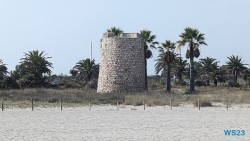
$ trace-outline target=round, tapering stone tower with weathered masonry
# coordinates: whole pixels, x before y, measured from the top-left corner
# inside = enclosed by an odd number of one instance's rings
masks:
[[[138,33],[114,36],[104,33],[98,93],[144,91],[145,64],[143,39]]]

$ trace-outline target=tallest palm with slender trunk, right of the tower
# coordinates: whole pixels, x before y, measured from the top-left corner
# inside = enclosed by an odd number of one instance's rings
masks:
[[[190,27],[185,28],[184,32],[180,35],[181,40],[177,42],[177,47],[183,47],[188,45],[188,50],[186,52],[186,57],[190,58],[190,93],[195,92],[194,87],[194,57],[198,58],[200,55],[199,46],[207,45],[205,43],[205,34],[199,32],[198,29],[193,29]]]

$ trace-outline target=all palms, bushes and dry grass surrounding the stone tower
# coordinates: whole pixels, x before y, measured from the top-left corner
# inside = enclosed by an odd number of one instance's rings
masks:
[[[116,27],[107,31],[115,36],[123,33]],[[140,33],[144,40],[147,68],[147,59],[153,55],[150,48],[156,49],[158,42],[151,31],[142,30]],[[87,58],[78,61],[69,70],[70,76],[52,75],[51,57],[47,57],[44,51],[33,50],[24,53],[20,64],[11,72],[0,59],[0,98],[9,105],[24,103],[23,107],[31,98],[45,105],[57,105],[60,98],[68,105],[86,105],[91,100],[94,104],[116,104],[118,101],[130,105],[142,105],[145,101],[148,106],[154,106],[168,105],[170,98],[175,106],[183,102],[197,105],[197,98],[201,99],[201,106],[226,100],[250,103],[250,69],[240,56],[227,57],[228,61],[222,66],[210,57],[194,61],[194,57],[200,55],[199,46],[207,45],[204,34],[188,27],[180,38],[176,43],[166,40],[158,47],[155,72],[161,75],[145,76],[145,85],[149,90],[144,93],[97,94],[99,64],[95,64],[95,60]],[[175,52],[175,48],[178,50],[184,46],[187,46],[186,58],[190,64]]]

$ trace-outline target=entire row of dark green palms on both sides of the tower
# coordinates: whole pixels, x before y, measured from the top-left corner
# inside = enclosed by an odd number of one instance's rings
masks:
[[[121,36],[123,30],[111,27],[107,32]],[[246,86],[250,85],[250,69],[238,55],[227,57],[228,61],[222,66],[218,65],[219,61],[210,57],[194,61],[194,58],[200,56],[200,46],[207,45],[205,34],[200,33],[198,29],[187,27],[179,35],[179,41],[166,40],[161,44],[156,41],[156,35],[149,30],[141,30],[140,34],[144,42],[146,87],[147,59],[153,55],[151,49],[159,51],[155,60],[155,72],[165,80],[163,83],[166,84],[167,93],[171,92],[172,79],[175,85],[189,85],[188,93],[195,93],[195,86],[217,86],[227,83],[228,86],[239,87],[239,77],[245,81]],[[180,55],[181,47],[187,47],[186,59]],[[69,70],[70,76],[67,76],[52,75],[53,64],[49,61],[50,58],[44,51],[29,51],[24,53],[20,63],[11,72],[8,72],[6,64],[0,60],[0,89],[97,87],[99,64],[96,64],[95,60],[79,60]]]

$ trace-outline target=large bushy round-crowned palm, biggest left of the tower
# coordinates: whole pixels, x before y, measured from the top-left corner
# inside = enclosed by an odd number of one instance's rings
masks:
[[[38,50],[29,51],[24,53],[24,58],[21,58],[21,64],[19,65],[19,71],[21,77],[29,79],[31,87],[42,86],[45,84],[45,74],[50,74],[52,63],[48,61],[51,57],[46,57],[44,51]]]

